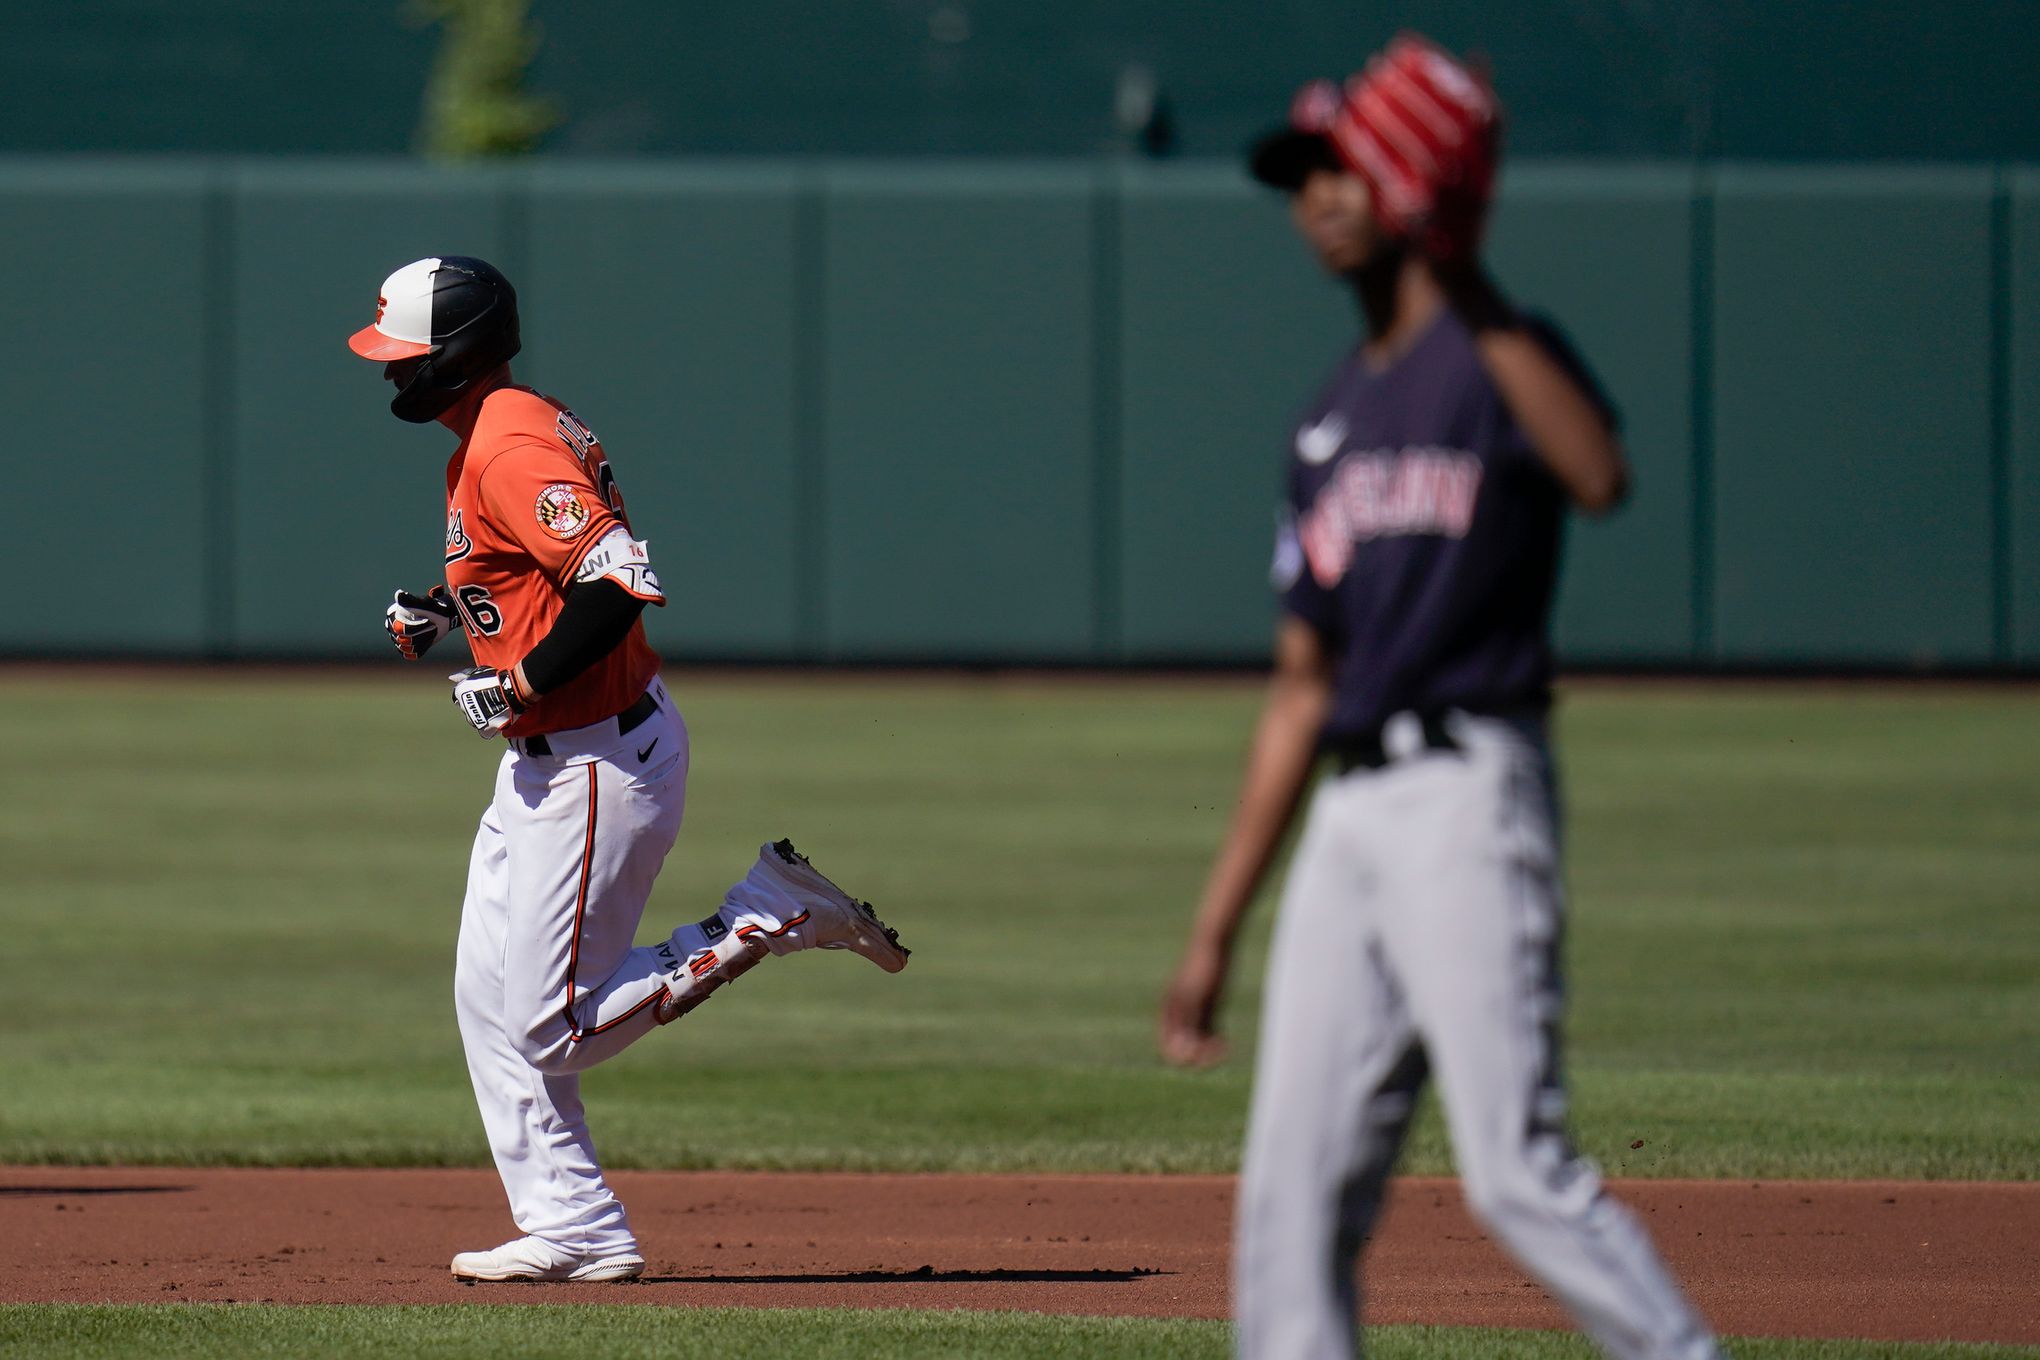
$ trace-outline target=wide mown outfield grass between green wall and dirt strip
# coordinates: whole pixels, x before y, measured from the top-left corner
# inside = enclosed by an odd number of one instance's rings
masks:
[[[437,675],[0,673],[0,1160],[486,1164],[451,950],[500,746]],[[792,834],[916,958],[775,962],[590,1075],[612,1164],[1234,1164],[1246,1054],[1167,1070],[1151,1015],[1253,685],[671,679],[692,805],[647,938]],[[2040,1170],[2032,691],[1595,683],[1563,738],[1585,1150]],[[1434,1119],[1406,1166],[1448,1168]]]

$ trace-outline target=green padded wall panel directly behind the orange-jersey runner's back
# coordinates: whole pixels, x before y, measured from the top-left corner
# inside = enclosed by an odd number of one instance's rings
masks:
[[[800,467],[816,400],[798,345],[800,184],[745,167],[547,167],[528,181],[532,381],[602,436],[667,591],[645,628],[669,661],[804,646],[818,589],[802,579],[804,516],[818,506]]]

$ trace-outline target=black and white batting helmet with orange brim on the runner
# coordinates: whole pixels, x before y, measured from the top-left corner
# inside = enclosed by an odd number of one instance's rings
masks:
[[[390,412],[412,424],[437,418],[520,347],[516,290],[471,255],[432,255],[392,273],[375,298],[375,322],[347,341],[377,363],[424,361],[390,402]]]

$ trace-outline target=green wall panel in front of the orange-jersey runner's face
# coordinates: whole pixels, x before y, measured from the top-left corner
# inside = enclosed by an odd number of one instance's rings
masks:
[[[390,593],[445,575],[455,438],[394,418],[379,365],[347,349],[375,320],[381,281],[426,255],[479,255],[518,281],[500,177],[398,165],[239,173],[226,353],[241,652],[394,657],[381,630]]]

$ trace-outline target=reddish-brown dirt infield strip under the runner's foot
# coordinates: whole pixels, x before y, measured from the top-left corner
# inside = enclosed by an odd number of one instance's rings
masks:
[[[461,1287],[486,1170],[0,1168],[0,1301],[661,1303],[1222,1317],[1222,1176],[618,1172],[645,1285]],[[2040,1185],[1628,1181],[1716,1327],[2040,1342]],[[1371,1321],[1559,1327],[1450,1181],[1401,1181]]]

